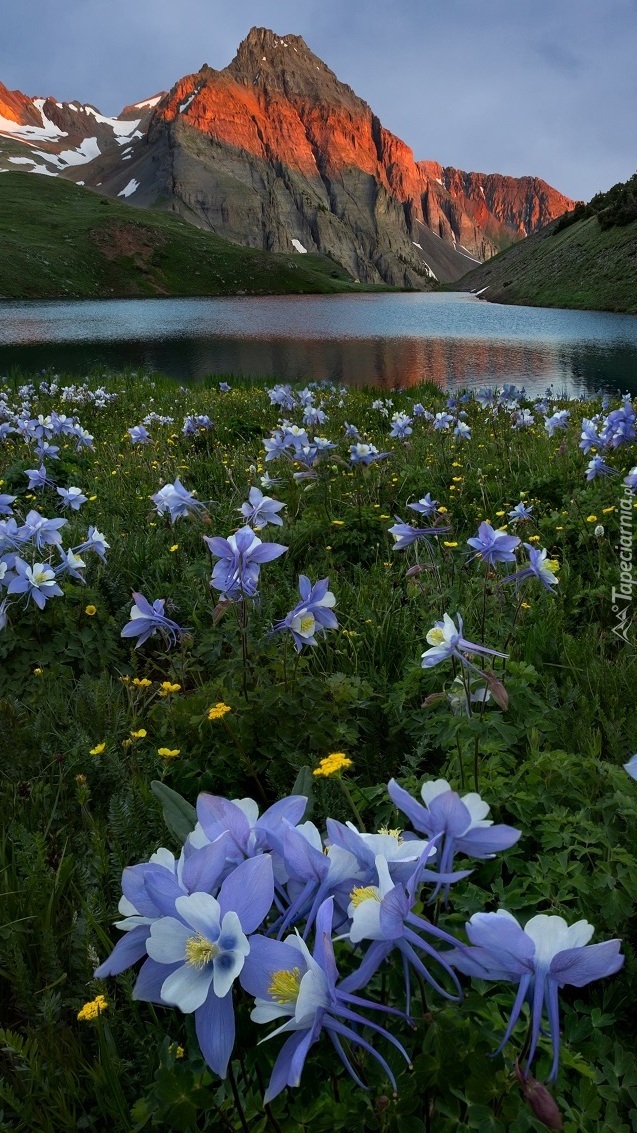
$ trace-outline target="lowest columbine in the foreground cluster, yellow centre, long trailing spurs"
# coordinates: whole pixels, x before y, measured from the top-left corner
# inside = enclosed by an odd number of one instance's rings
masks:
[[[275,1034],[289,1034],[274,1063],[264,1097],[265,1104],[272,1101],[286,1085],[299,1084],[309,1048],[317,1041],[322,1031],[328,1033],[346,1070],[363,1089],[366,1087],[354,1070],[341,1039],[346,1039],[353,1046],[362,1047],[375,1058],[394,1090],[396,1079],[382,1055],[363,1039],[355,1028],[365,1026],[375,1031],[391,1042],[409,1063],[409,1056],[392,1034],[353,1010],[367,1007],[387,1012],[388,1008],[340,989],[332,945],[332,913],[333,902],[332,898],[328,898],[321,905],[316,918],[313,954],[297,936],[288,937],[284,942],[271,940],[263,936],[254,936],[250,939],[250,953],[240,981],[246,991],[256,999],[252,1019],[257,1023],[284,1019],[286,1022],[269,1038]]]

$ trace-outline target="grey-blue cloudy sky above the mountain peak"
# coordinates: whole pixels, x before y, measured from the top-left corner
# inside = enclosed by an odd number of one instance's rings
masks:
[[[417,159],[575,198],[637,168],[637,0],[0,0],[0,82],[105,113],[303,35]]]

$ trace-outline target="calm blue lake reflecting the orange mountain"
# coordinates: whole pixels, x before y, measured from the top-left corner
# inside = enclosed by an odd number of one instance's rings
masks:
[[[637,315],[466,293],[0,303],[0,375],[145,367],[354,385],[637,393]]]

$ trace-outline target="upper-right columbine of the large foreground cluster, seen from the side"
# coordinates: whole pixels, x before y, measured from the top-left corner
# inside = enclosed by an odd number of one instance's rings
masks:
[[[456,853],[468,858],[492,858],[501,850],[509,850],[521,836],[521,832],[513,826],[494,826],[493,819],[487,817],[491,807],[479,794],[472,791],[460,798],[447,780],[423,783],[421,795],[424,807],[396,780],[390,780],[388,794],[419,834],[430,838],[442,835],[436,857],[440,874],[451,872]],[[438,888],[440,886],[436,893]],[[449,895],[449,884],[444,884],[444,889]]]

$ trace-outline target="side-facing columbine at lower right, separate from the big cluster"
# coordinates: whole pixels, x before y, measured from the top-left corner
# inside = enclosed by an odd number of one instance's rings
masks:
[[[604,979],[623,964],[621,940],[588,944],[594,928],[587,921],[570,927],[561,917],[540,913],[525,928],[511,913],[474,913],[467,925],[473,948],[447,953],[447,960],[466,976],[482,980],[511,980],[518,983],[509,1025],[499,1050],[508,1042],[525,999],[530,1007],[530,1047],[527,1071],[533,1062],[542,1016],[545,1013],[553,1046],[553,1065],[549,1082],[558,1076],[560,1062],[560,1014],[558,991],[569,983],[585,987]]]

